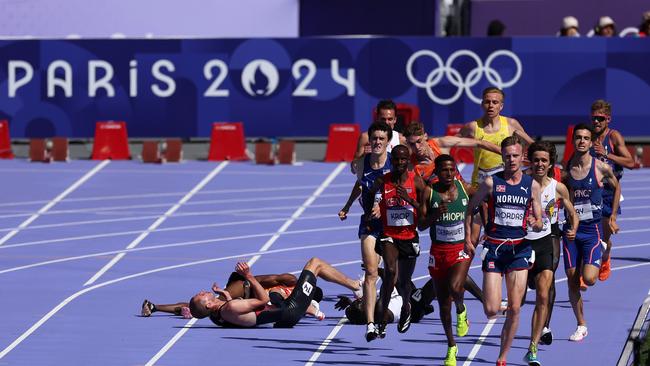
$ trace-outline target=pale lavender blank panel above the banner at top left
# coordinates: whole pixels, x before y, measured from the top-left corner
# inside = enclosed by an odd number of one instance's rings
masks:
[[[297,37],[297,0],[1,0],[0,37]]]

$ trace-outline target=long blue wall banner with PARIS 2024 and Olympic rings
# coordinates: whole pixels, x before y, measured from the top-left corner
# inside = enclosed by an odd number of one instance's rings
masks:
[[[532,135],[561,136],[613,105],[611,126],[650,136],[650,42],[559,38],[295,38],[0,41],[0,119],[13,138],[326,136],[371,121],[379,99],[415,104],[433,135],[480,116],[483,88]]]

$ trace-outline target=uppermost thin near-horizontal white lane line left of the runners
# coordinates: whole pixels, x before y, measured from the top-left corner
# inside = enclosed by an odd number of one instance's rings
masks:
[[[331,184],[330,188],[349,188],[349,184]],[[273,187],[273,191],[297,191],[301,189],[315,189],[318,188],[317,185],[300,185],[300,186],[284,186],[284,187]],[[210,194],[227,194],[227,193],[254,193],[254,192],[268,192],[268,188],[240,188],[240,189],[212,189],[197,192],[197,196],[206,196]],[[132,198],[157,198],[157,197],[177,197],[183,196],[187,192],[165,192],[165,193],[141,193],[141,194],[123,194],[123,195],[111,195],[111,196],[94,196],[94,197],[80,197],[80,198],[69,198],[66,202],[92,202],[92,201],[112,201],[112,200],[122,200],[122,199],[132,199]],[[18,202],[5,202],[0,203],[0,207],[8,206],[27,206],[27,205],[37,205],[42,203],[47,203],[48,201],[18,201]]]

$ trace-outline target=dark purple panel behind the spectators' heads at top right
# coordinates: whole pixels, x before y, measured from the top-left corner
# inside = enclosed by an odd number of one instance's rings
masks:
[[[637,28],[641,15],[650,10],[647,0],[473,0],[471,35],[487,34],[488,24],[495,19],[502,21],[505,35],[552,36],[562,26],[562,18],[574,16],[579,22],[579,31],[588,35],[602,16],[611,17],[617,30]]]

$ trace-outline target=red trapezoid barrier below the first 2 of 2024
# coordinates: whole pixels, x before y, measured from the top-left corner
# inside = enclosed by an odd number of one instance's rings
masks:
[[[212,124],[208,160],[248,160],[243,123],[215,122]]]

